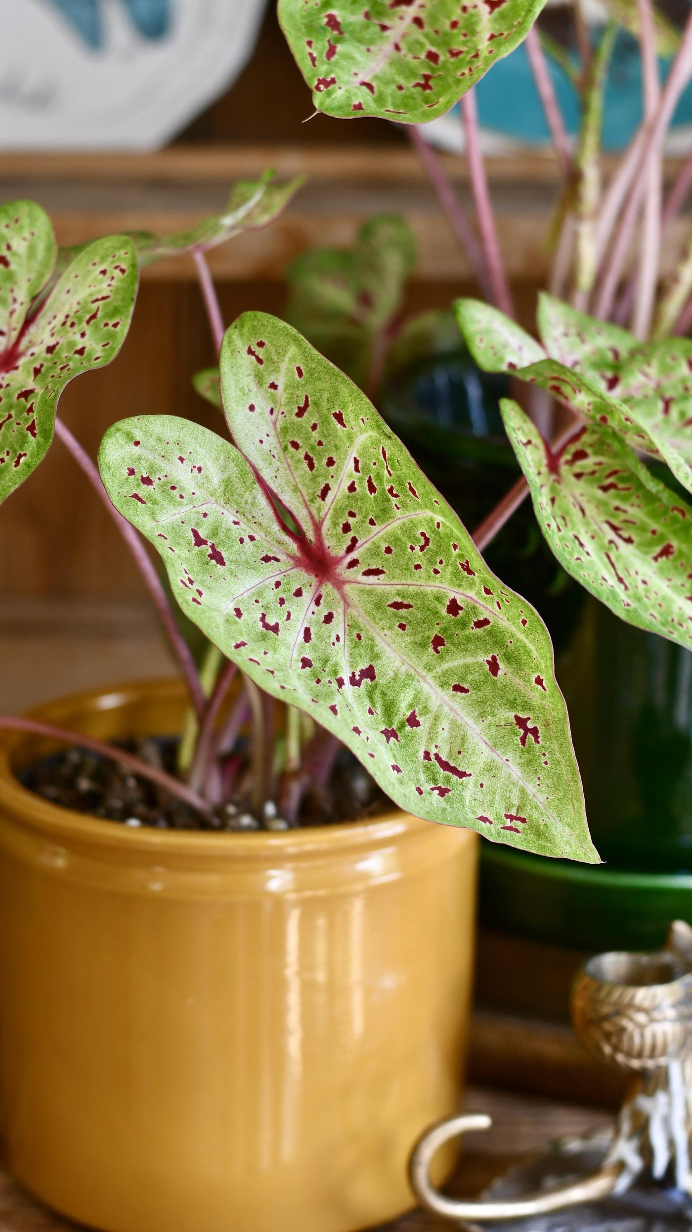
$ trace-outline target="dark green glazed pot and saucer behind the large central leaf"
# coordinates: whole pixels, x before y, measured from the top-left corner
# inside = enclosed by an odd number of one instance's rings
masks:
[[[473,530],[518,473],[504,434],[502,377],[464,351],[419,363],[382,409]],[[661,476],[662,478],[662,476]],[[480,917],[580,950],[655,949],[692,923],[692,654],[626,625],[566,577],[527,501],[485,557],[553,638],[601,866],[484,841]]]

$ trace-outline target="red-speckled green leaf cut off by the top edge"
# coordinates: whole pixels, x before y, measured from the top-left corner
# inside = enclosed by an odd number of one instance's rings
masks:
[[[313,102],[419,124],[445,115],[526,37],[544,0],[280,0]]]

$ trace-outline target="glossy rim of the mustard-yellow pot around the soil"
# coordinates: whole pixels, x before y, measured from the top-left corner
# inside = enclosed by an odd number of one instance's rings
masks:
[[[153,680],[132,685],[116,685],[92,690],[38,706],[28,717],[80,731],[89,727],[89,715],[95,711],[117,711],[132,705],[135,699],[151,694],[170,694],[180,700],[182,686],[175,680]],[[158,734],[158,733],[151,733]],[[305,829],[268,833],[254,830],[247,834],[209,833],[207,830],[155,830],[139,829],[90,817],[69,808],[52,804],[42,796],[25,787],[17,779],[14,765],[28,764],[38,744],[47,744],[44,737],[27,732],[0,733],[0,809],[7,821],[21,828],[42,834],[52,843],[68,843],[90,849],[119,850],[126,861],[137,856],[177,856],[183,859],[212,857],[214,862],[276,860],[308,860],[337,856],[339,853],[357,853],[360,849],[387,845],[405,837],[419,835],[432,823],[424,822],[395,806],[392,812],[380,813],[372,821],[339,822],[331,825],[305,827]],[[42,754],[38,754],[42,755]]]

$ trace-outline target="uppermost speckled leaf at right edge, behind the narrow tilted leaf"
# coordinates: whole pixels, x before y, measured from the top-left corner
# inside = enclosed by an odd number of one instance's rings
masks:
[[[658,452],[692,490],[692,340],[640,342],[634,334],[542,296],[538,325],[548,352],[576,366],[608,402],[623,408],[651,446],[630,431],[630,445]],[[617,428],[617,423],[612,423]]]

